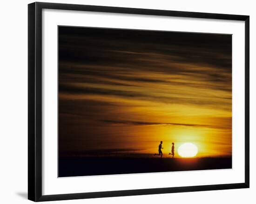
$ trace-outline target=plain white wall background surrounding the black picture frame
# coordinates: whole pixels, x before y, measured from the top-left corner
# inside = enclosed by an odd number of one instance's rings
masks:
[[[44,0],[41,0],[44,1]],[[27,4],[29,0],[0,4],[0,203],[27,200]],[[147,196],[54,201],[51,203],[256,203],[256,5],[253,0],[47,0],[116,7],[250,15],[250,189],[203,191]]]

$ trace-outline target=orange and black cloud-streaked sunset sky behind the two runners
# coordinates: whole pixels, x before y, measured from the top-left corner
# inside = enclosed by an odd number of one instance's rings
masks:
[[[59,26],[59,155],[232,153],[232,36]],[[167,156],[166,156],[167,157]]]

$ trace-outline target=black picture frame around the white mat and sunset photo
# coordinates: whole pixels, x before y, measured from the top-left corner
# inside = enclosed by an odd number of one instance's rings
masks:
[[[155,16],[190,17],[245,22],[245,182],[125,191],[84,192],[42,195],[42,9],[129,13]],[[188,191],[249,188],[249,16],[197,13],[141,8],[103,7],[35,2],[28,5],[28,199],[53,201],[96,197],[134,196]]]

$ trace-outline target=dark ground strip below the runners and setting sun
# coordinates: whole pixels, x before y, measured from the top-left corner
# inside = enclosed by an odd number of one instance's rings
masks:
[[[231,169],[232,158],[60,158],[59,177]]]

